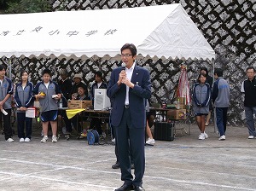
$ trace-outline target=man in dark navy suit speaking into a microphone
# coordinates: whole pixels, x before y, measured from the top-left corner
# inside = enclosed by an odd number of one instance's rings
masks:
[[[151,96],[149,72],[136,66],[137,49],[132,43],[125,43],[121,48],[125,67],[113,70],[108,84],[107,94],[113,99],[111,122],[116,132],[119,147],[121,180],[124,184],[115,189],[145,190],[142,187],[145,171],[145,99]],[[131,174],[131,156],[134,161],[134,174]]]

